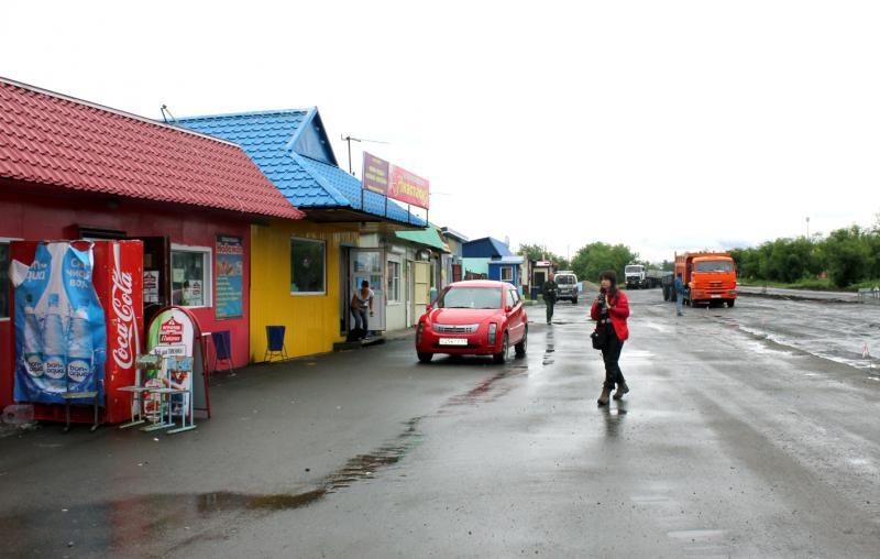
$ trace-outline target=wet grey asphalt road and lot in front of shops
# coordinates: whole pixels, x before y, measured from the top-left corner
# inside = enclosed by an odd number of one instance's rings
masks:
[[[504,366],[402,340],[221,379],[189,434],[0,439],[0,555],[878,556],[880,376],[772,336],[835,306],[631,292],[631,392],[598,408],[584,299],[530,308]]]

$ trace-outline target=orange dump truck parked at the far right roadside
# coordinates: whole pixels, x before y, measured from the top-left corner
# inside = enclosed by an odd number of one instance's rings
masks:
[[[688,294],[684,302],[698,304],[736,302],[736,265],[728,252],[685,252],[675,254],[675,275],[681,274]]]

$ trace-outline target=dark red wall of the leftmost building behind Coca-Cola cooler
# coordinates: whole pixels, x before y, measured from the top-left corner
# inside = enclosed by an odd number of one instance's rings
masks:
[[[77,193],[57,194],[53,188],[0,179],[0,238],[28,241],[70,240],[80,226],[124,231],[128,237],[168,237],[172,243],[210,246],[216,263],[218,234],[244,239],[242,317],[217,320],[215,308],[194,308],[206,331],[230,330],[234,366],[249,361],[251,220],[231,212],[198,207],[154,204]],[[216,284],[216,270],[211,274]],[[216,286],[211,287],[212,299]],[[10,315],[14,313],[10,300]],[[11,375],[13,349],[11,320],[0,320],[0,375]],[[142,338],[143,339],[143,338]]]

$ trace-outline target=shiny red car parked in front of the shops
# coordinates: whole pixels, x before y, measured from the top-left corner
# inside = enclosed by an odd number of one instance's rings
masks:
[[[492,355],[507,361],[510,346],[526,354],[528,317],[516,287],[504,282],[457,282],[446,287],[416,327],[416,352]]]

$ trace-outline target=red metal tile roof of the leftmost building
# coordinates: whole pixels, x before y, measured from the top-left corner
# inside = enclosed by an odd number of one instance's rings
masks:
[[[0,78],[0,177],[301,219],[237,144]]]

